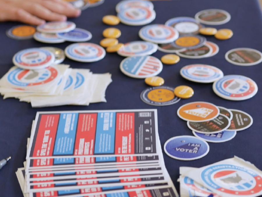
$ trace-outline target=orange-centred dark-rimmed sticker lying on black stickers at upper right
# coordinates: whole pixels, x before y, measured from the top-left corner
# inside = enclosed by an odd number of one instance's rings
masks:
[[[176,48],[180,49],[196,49],[203,46],[206,43],[206,38],[203,36],[179,36],[179,38],[173,42]]]

